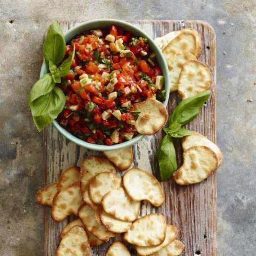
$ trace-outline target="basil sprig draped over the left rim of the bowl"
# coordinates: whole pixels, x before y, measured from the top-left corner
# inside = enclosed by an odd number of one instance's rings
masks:
[[[28,99],[28,105],[38,131],[54,121],[65,106],[63,91],[55,87],[55,83],[61,82],[61,77],[70,73],[70,66],[74,59],[73,51],[58,67],[65,56],[65,48],[66,43],[61,27],[53,21],[43,45],[43,55],[49,63],[51,73],[45,74],[34,84]]]

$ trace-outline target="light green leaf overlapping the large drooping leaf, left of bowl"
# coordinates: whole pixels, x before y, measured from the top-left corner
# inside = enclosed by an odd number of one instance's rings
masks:
[[[28,103],[30,104],[42,95],[48,94],[54,88],[54,80],[51,74],[45,74],[31,88]]]

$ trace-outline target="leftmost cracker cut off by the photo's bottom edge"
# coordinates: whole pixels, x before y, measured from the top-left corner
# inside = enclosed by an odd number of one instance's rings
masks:
[[[84,228],[74,226],[63,236],[56,256],[90,256],[90,245]]]

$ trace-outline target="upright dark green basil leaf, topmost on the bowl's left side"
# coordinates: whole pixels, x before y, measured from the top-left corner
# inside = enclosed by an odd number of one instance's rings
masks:
[[[43,55],[47,61],[58,64],[65,55],[66,42],[60,25],[53,21],[48,29],[43,45]]]

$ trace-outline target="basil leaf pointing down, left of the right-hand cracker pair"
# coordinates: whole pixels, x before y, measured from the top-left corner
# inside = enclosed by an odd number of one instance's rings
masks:
[[[165,135],[158,147],[156,157],[160,169],[160,178],[164,182],[177,170],[176,153],[172,138]]]

